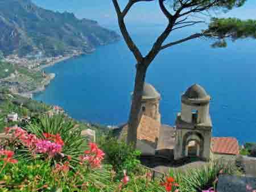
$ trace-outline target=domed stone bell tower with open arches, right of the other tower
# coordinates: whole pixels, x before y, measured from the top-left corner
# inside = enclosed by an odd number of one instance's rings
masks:
[[[181,112],[176,118],[175,160],[185,157],[210,158],[212,121],[210,96],[200,85],[193,85],[181,96]]]

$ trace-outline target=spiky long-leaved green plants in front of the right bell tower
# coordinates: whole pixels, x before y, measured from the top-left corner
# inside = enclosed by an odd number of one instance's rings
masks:
[[[216,185],[216,178],[220,174],[237,174],[241,176],[240,169],[233,163],[222,160],[209,162],[203,168],[184,170],[170,170],[170,176],[180,185],[180,191],[191,192],[209,189]]]

